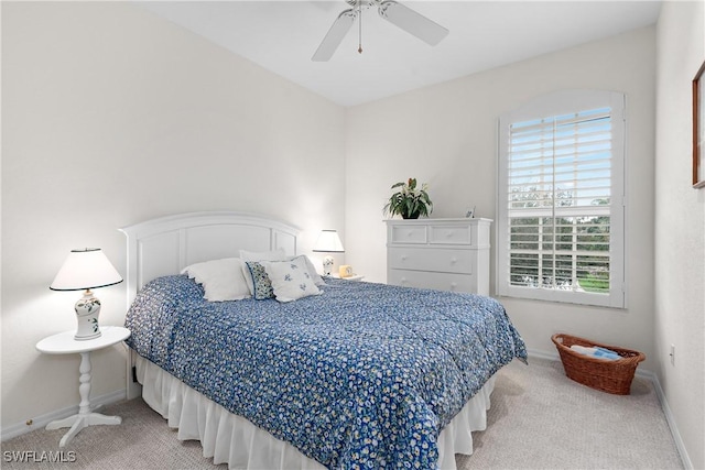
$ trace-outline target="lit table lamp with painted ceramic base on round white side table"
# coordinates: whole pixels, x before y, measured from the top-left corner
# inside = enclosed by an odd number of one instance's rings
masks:
[[[122,277],[99,248],[72,250],[68,253],[48,288],[52,291],[85,291],[74,307],[78,321],[74,339],[83,341],[100,336],[100,326],[98,325],[100,300],[93,295],[90,289],[121,282]]]

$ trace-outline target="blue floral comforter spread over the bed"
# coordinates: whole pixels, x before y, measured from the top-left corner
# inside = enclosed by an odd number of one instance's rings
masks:
[[[523,340],[489,297],[326,280],[324,294],[209,303],[184,275],[138,294],[128,343],[324,466],[437,466],[438,434]]]

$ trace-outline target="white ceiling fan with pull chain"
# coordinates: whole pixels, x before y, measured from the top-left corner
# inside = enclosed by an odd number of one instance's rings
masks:
[[[350,7],[344,10],[333,22],[328,33],[316,50],[313,57],[314,62],[326,62],[338,48],[343,39],[348,33],[352,23],[357,19],[360,28],[360,46],[359,53],[362,53],[362,9],[377,7],[379,15],[390,23],[401,28],[408,33],[413,34],[432,46],[438,44],[447,34],[448,30],[434,21],[427,19],[423,14],[395,2],[394,0],[345,0]]]

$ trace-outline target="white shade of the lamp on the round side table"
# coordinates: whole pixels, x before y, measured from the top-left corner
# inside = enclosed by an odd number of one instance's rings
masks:
[[[83,291],[122,282],[99,248],[72,250],[50,286],[52,291]]]

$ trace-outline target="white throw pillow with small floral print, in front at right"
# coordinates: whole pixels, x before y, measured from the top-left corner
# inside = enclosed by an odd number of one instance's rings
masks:
[[[279,302],[292,302],[310,295],[321,295],[313,276],[308,273],[306,256],[289,261],[260,261],[272,283],[274,297]]]

